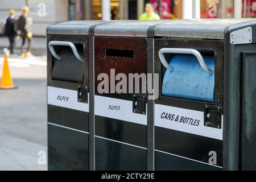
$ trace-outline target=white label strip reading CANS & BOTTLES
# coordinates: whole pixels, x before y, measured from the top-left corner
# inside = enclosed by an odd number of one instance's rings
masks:
[[[201,111],[156,104],[155,126],[223,140],[223,129],[204,126],[204,112]]]

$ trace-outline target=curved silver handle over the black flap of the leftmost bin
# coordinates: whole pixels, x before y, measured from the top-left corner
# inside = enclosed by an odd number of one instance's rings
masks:
[[[49,51],[52,53],[52,56],[55,57],[57,60],[60,60],[61,57],[60,57],[60,55],[58,55],[55,52],[53,46],[69,46],[69,47],[71,47],[71,49],[72,49],[74,55],[76,56],[76,58],[79,59],[80,61],[84,62],[82,57],[77,52],[76,46],[72,42],[62,42],[62,41],[51,41],[51,42],[49,42],[48,47],[49,47]]]

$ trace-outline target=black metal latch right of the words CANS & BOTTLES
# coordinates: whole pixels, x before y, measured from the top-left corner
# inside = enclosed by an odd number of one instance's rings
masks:
[[[204,113],[204,126],[221,129],[222,108],[217,106],[206,106]]]

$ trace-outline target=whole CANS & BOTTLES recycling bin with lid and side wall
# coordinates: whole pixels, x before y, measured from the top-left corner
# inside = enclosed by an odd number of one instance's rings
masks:
[[[156,170],[255,170],[255,25],[196,19],[155,27]]]

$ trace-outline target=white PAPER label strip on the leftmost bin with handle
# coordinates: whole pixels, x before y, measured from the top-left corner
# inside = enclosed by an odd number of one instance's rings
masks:
[[[89,98],[89,94],[88,94]],[[47,87],[47,104],[89,112],[89,104],[78,102],[76,90]]]

